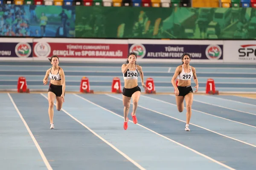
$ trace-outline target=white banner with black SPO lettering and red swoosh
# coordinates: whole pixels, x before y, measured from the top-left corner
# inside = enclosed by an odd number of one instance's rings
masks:
[[[224,62],[256,63],[256,41],[224,41]]]

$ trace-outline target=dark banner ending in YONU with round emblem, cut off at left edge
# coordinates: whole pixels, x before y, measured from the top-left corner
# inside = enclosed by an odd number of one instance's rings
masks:
[[[0,57],[1,58],[28,58],[32,57],[32,39],[0,39]]]

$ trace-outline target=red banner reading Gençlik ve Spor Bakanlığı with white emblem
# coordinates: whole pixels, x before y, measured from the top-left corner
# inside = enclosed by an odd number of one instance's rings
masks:
[[[127,40],[49,39],[34,40],[34,57],[126,58]]]

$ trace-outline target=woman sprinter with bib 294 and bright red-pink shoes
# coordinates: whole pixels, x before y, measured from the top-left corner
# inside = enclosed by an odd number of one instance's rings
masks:
[[[142,67],[137,65],[136,63],[137,54],[136,53],[129,53],[126,63],[122,65],[122,73],[125,80],[125,86],[123,88],[123,105],[124,105],[124,129],[126,130],[128,128],[128,112],[130,108],[130,102],[132,97],[133,102],[133,109],[132,109],[132,120],[134,124],[137,123],[136,118],[136,109],[138,106],[138,101],[140,98],[140,87],[138,85],[138,74],[140,73],[140,79],[141,79],[141,85],[143,88],[147,89],[147,87],[144,84],[143,80],[143,71]]]

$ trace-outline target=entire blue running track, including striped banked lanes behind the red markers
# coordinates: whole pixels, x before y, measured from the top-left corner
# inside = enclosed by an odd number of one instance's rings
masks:
[[[49,84],[43,86],[50,63],[0,62],[1,169],[256,169],[256,99],[203,94],[208,78],[220,92],[256,92],[255,65],[191,64],[203,93],[194,95],[189,132],[184,130],[186,103],[179,113],[171,85],[178,64],[158,63],[141,64],[144,80],[154,79],[157,94],[141,94],[136,125],[131,101],[124,130],[122,94],[110,93],[114,77],[123,87],[121,65],[61,62],[67,93],[61,111],[54,107],[55,128],[50,130]],[[16,92],[20,76],[31,93]],[[79,93],[82,77],[102,93]]]

